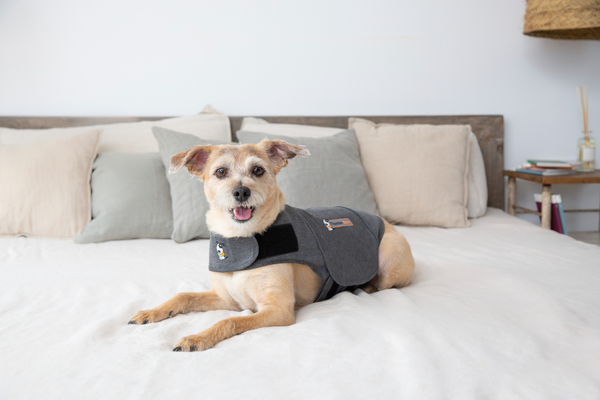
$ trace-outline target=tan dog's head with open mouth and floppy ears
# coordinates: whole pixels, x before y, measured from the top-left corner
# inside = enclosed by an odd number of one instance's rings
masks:
[[[276,175],[297,155],[310,153],[283,140],[196,146],[172,156],[169,173],[186,167],[204,181],[211,231],[226,237],[252,236],[271,225],[285,206]]]

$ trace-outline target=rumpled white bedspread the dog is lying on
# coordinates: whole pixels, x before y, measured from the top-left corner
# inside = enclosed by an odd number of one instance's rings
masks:
[[[399,227],[409,287],[196,353],[171,350],[250,312],[127,322],[209,289],[208,241],[0,239],[0,398],[599,399],[600,247],[495,209],[472,225]]]

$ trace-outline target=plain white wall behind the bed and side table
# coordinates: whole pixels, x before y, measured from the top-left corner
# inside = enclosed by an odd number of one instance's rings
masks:
[[[503,114],[506,167],[574,159],[577,85],[600,134],[600,42],[524,36],[524,12],[524,0],[2,0],[0,115]],[[555,192],[597,208],[598,186]],[[519,203],[539,190],[520,183]],[[567,225],[597,230],[598,216]]]

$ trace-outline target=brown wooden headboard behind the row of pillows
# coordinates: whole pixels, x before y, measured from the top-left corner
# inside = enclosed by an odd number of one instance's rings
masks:
[[[504,209],[504,118],[501,115],[359,116],[375,123],[471,125],[483,153],[488,184],[488,206]],[[65,128],[117,122],[157,121],[169,117],[0,117],[0,127],[16,129]],[[328,126],[346,129],[349,117],[259,117],[273,123]],[[236,139],[243,117],[229,117]],[[237,139],[236,139],[237,140]]]

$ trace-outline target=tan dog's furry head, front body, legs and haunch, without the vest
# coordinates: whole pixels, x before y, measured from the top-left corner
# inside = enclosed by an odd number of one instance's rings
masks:
[[[222,237],[251,237],[262,233],[285,207],[277,173],[296,155],[308,156],[304,146],[281,140],[258,144],[196,146],[171,158],[170,173],[184,166],[204,181],[210,203],[210,231]],[[212,249],[211,249],[212,250]],[[404,236],[385,222],[379,245],[376,276],[364,288],[375,292],[410,283],[414,260]],[[295,323],[294,309],[312,303],[320,278],[301,264],[273,264],[239,272],[210,272],[208,292],[179,293],[152,310],[140,311],[130,324],[159,322],[190,311],[249,309],[249,316],[220,321],[197,335],[182,338],[174,351],[206,350],[222,340],[251,329]]]

